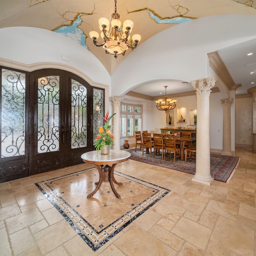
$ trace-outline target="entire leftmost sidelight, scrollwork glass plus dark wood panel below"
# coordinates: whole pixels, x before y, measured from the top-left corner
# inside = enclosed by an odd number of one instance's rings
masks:
[[[0,182],[28,176],[28,136],[26,136],[26,88],[24,72],[0,69],[1,73],[1,157]]]

